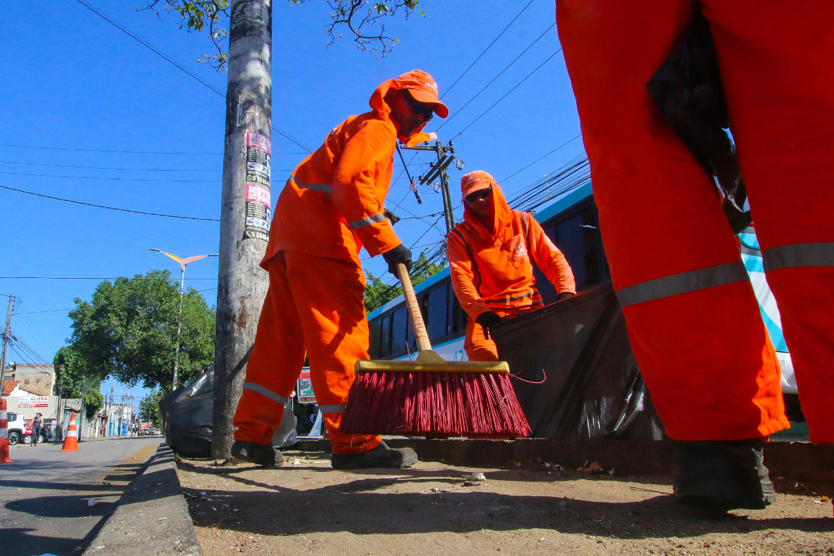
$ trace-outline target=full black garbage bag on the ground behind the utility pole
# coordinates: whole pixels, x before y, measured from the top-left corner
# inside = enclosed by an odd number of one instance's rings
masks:
[[[159,400],[165,442],[184,456],[210,457],[213,408],[214,365],[210,365],[203,368],[190,383]],[[274,433],[274,446],[284,448],[294,444],[295,425],[293,400],[289,399],[284,407],[281,426]]]

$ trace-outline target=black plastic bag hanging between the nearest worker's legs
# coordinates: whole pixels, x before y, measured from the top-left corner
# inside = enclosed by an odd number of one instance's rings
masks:
[[[710,23],[699,9],[669,58],[646,83],[649,95],[710,179],[715,176],[733,232],[752,222],[730,127]]]

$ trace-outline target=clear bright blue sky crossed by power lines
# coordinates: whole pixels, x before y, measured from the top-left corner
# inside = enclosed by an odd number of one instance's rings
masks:
[[[153,13],[137,12],[143,0],[96,0],[93,5],[225,90],[226,74],[197,62],[203,54],[211,53],[205,35],[185,33],[173,15],[163,14],[162,23]],[[311,0],[300,7],[276,0],[273,123],[317,148],[344,118],[366,112],[370,94],[387,78],[424,69],[444,93],[524,5],[497,0],[423,0],[425,18],[414,14],[407,22],[396,18],[388,23],[389,32],[400,42],[388,58],[378,59],[375,54],[359,53],[348,39],[325,47],[323,28],[329,22],[329,9],[323,0]],[[534,0],[444,97],[451,113],[550,28],[554,10],[552,0]],[[119,208],[217,218],[223,163],[222,98],[78,2],[10,3],[6,13],[0,143],[48,148],[0,146],[0,185]],[[559,48],[556,29],[550,28],[451,119],[440,130],[440,138],[448,141],[457,135]],[[443,122],[435,118],[427,130],[434,131]],[[487,170],[510,194],[580,153],[582,145],[577,140],[503,180],[579,131],[565,61],[558,53],[455,138],[455,149],[465,160],[463,173]],[[277,134],[273,151],[273,199],[277,199],[284,179],[304,155]],[[417,164],[428,160],[428,155],[415,158],[414,166],[409,167],[412,174],[419,174],[425,166]],[[398,160],[394,178],[401,170]],[[457,170],[450,173],[455,203],[460,202],[461,175]],[[407,185],[403,175],[390,188],[387,206],[399,216],[409,216],[409,212],[422,216],[442,209],[439,194],[424,188],[424,203],[418,205]],[[400,202],[400,208],[395,208]],[[218,249],[217,223],[118,213],[3,189],[0,208],[5,238],[0,276],[4,277],[109,278],[133,276],[152,268],[168,268],[176,275],[176,263],[148,248],[183,257],[217,253]],[[440,229],[440,221],[437,228],[430,228],[423,220],[411,219],[399,223],[395,231],[406,245],[421,246],[440,241]],[[420,248],[414,251],[416,255]],[[384,263],[378,259],[364,262],[376,275],[384,273]],[[215,278],[217,259],[189,265],[187,276]],[[11,293],[23,301],[12,328],[51,360],[71,332],[66,309],[73,307],[73,298],[88,299],[97,283],[0,279],[0,293]],[[214,304],[216,290],[209,288],[215,288],[216,282],[193,280],[187,285],[207,290],[203,295]],[[109,393],[109,382],[102,389]],[[133,392],[141,394],[143,390],[133,388]]]

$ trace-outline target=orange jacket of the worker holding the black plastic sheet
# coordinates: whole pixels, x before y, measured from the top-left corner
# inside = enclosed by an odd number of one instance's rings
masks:
[[[495,184],[492,199],[495,232],[486,230],[464,203],[464,222],[449,234],[446,247],[452,286],[470,319],[487,311],[504,316],[544,304],[535,288],[530,253],[558,293],[576,293],[570,265],[535,218],[511,210]]]

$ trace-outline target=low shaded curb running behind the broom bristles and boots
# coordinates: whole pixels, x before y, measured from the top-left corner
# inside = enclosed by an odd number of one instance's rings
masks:
[[[517,462],[538,462],[541,458],[568,469],[590,461],[625,474],[671,473],[672,470],[672,445],[665,441],[386,438],[385,443],[391,448],[414,448],[421,461],[466,467],[511,467]],[[299,438],[298,449],[329,453],[333,448],[324,438]],[[834,444],[768,442],[765,465],[771,477],[834,483]]]

